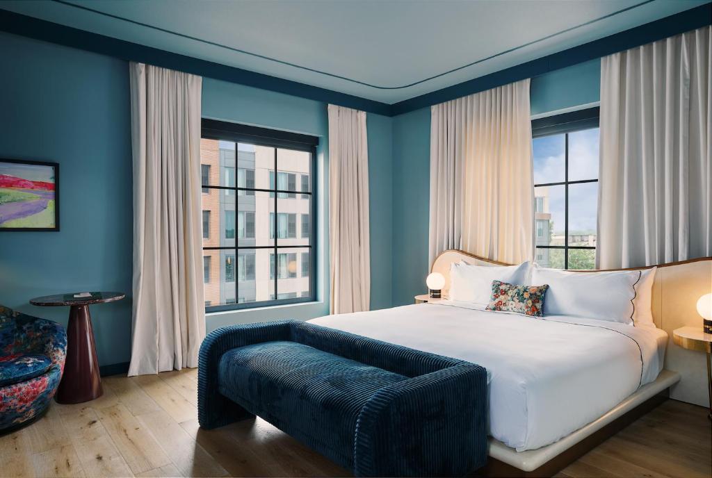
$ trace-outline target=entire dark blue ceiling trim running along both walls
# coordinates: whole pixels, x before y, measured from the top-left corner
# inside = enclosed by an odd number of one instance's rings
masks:
[[[350,107],[384,116],[402,115],[424,107],[437,105],[441,102],[524,80],[525,78],[533,78],[553,70],[595,60],[605,55],[627,50],[628,48],[635,48],[711,24],[712,3],[708,3],[581,46],[554,53],[553,55],[521,63],[505,70],[483,75],[473,80],[389,105],[347,93],[131,43],[0,9],[0,31],[6,31],[7,33],[109,55],[122,60],[149,63],[163,68],[215,78],[216,80],[280,92],[286,95]]]

